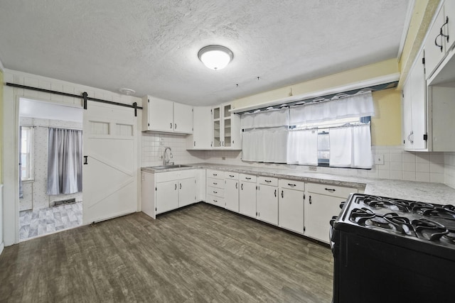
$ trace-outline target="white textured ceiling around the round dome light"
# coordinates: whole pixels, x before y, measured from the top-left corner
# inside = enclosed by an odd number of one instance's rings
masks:
[[[0,61],[137,97],[217,104],[397,57],[409,1],[0,0]],[[234,53],[224,70],[198,60],[210,44]]]

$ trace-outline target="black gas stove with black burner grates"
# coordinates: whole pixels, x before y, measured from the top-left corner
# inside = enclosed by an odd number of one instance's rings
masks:
[[[455,302],[455,206],[365,194],[341,206],[333,302]]]

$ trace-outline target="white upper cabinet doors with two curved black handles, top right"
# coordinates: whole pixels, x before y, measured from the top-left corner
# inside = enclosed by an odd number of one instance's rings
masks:
[[[429,28],[424,42],[427,77],[438,67],[455,41],[455,1],[446,0]]]

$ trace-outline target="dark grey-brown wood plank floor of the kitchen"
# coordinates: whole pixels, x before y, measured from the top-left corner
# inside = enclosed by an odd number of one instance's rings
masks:
[[[0,255],[0,302],[331,302],[329,248],[207,204]]]

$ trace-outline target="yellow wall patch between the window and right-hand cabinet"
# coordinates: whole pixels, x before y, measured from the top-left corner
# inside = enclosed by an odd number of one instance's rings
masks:
[[[400,145],[401,131],[401,92],[385,89],[373,92],[375,116],[371,117],[372,145]]]

